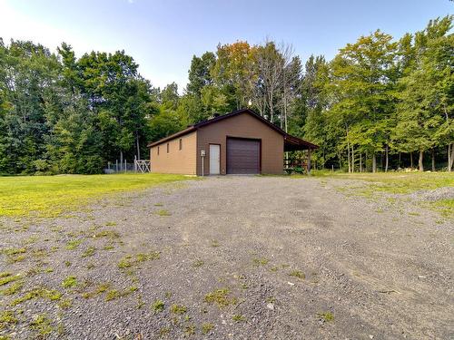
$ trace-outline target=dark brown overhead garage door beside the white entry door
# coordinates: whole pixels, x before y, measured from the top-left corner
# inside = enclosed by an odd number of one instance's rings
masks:
[[[260,173],[260,141],[228,138],[227,173]]]

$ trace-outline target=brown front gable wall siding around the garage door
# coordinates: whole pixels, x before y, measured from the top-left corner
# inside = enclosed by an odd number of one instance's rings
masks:
[[[263,174],[281,174],[283,172],[283,137],[251,114],[244,112],[232,118],[205,125],[197,131],[197,175],[202,175],[201,151],[206,152],[204,174],[210,171],[210,144],[221,145],[221,174],[225,175],[227,160],[227,137],[249,138],[262,142]]]

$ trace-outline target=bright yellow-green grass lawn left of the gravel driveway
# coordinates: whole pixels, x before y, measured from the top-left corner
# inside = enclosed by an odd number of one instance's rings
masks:
[[[55,217],[104,195],[180,180],[188,177],[154,173],[0,177],[0,216]]]

